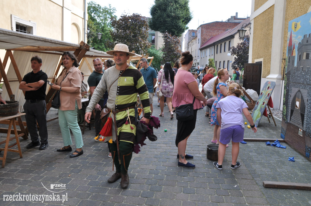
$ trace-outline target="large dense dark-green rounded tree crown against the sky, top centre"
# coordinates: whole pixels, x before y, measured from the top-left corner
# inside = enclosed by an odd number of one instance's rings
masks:
[[[155,0],[150,9],[149,27],[161,33],[180,37],[192,19],[189,0]]]

